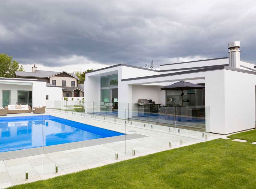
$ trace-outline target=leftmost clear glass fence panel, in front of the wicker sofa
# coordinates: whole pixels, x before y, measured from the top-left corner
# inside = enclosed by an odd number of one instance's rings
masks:
[[[0,111],[1,184],[23,184],[31,178],[40,180],[43,173],[45,116],[31,113],[26,106],[9,104],[4,113]]]

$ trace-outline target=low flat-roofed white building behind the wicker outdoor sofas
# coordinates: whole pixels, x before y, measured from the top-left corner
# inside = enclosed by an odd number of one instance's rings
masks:
[[[0,106],[29,104],[54,108],[62,101],[62,87],[38,79],[0,78]]]

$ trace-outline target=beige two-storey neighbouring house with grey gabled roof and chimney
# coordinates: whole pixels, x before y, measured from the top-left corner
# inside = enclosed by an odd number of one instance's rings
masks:
[[[84,86],[78,84],[80,79],[74,73],[37,70],[36,64],[34,63],[32,72],[15,71],[15,77],[38,79],[50,85],[62,87],[63,97],[83,97]]]

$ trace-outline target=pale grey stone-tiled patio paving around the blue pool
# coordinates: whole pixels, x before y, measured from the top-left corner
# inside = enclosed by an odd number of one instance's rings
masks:
[[[73,173],[81,170],[86,170],[94,167],[112,164],[119,161],[144,156],[164,150],[170,150],[187,146],[195,143],[206,141],[202,137],[202,132],[191,131],[186,129],[169,128],[161,125],[145,125],[142,122],[128,122],[125,126],[124,120],[105,118],[91,115],[80,114],[72,115],[69,113],[59,113],[58,111],[47,111],[46,114],[58,116],[64,119],[70,119],[76,122],[85,123],[117,132],[126,133],[123,140],[105,141],[104,143],[80,147],[74,143],[72,148],[68,150],[60,150],[57,152],[46,153],[42,148],[40,155],[26,155],[15,159],[6,159],[0,161],[0,187],[9,187],[16,184],[34,182],[42,179],[49,179],[55,176],[60,176],[67,173]],[[8,114],[7,116],[33,116],[35,114]],[[145,137],[129,139],[130,134],[139,134]],[[208,140],[213,140],[223,135],[209,134]],[[180,144],[180,140],[183,144]],[[169,147],[169,142],[172,147]],[[57,146],[57,145],[56,145]],[[54,148],[54,146],[51,146]],[[135,155],[132,155],[132,149],[135,149]],[[55,150],[56,151],[56,150]],[[118,153],[118,159],[115,159],[115,153]],[[1,157],[1,153],[0,153]],[[58,173],[55,174],[55,164],[58,164]],[[25,171],[29,172],[29,179],[25,180]]]

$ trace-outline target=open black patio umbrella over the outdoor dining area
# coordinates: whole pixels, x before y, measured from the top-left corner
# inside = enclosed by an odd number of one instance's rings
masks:
[[[184,95],[183,90],[200,89],[200,88],[204,88],[204,86],[186,82],[186,81],[179,81],[161,88],[160,91],[181,91],[181,99],[182,99],[181,104],[183,106],[183,95]]]

